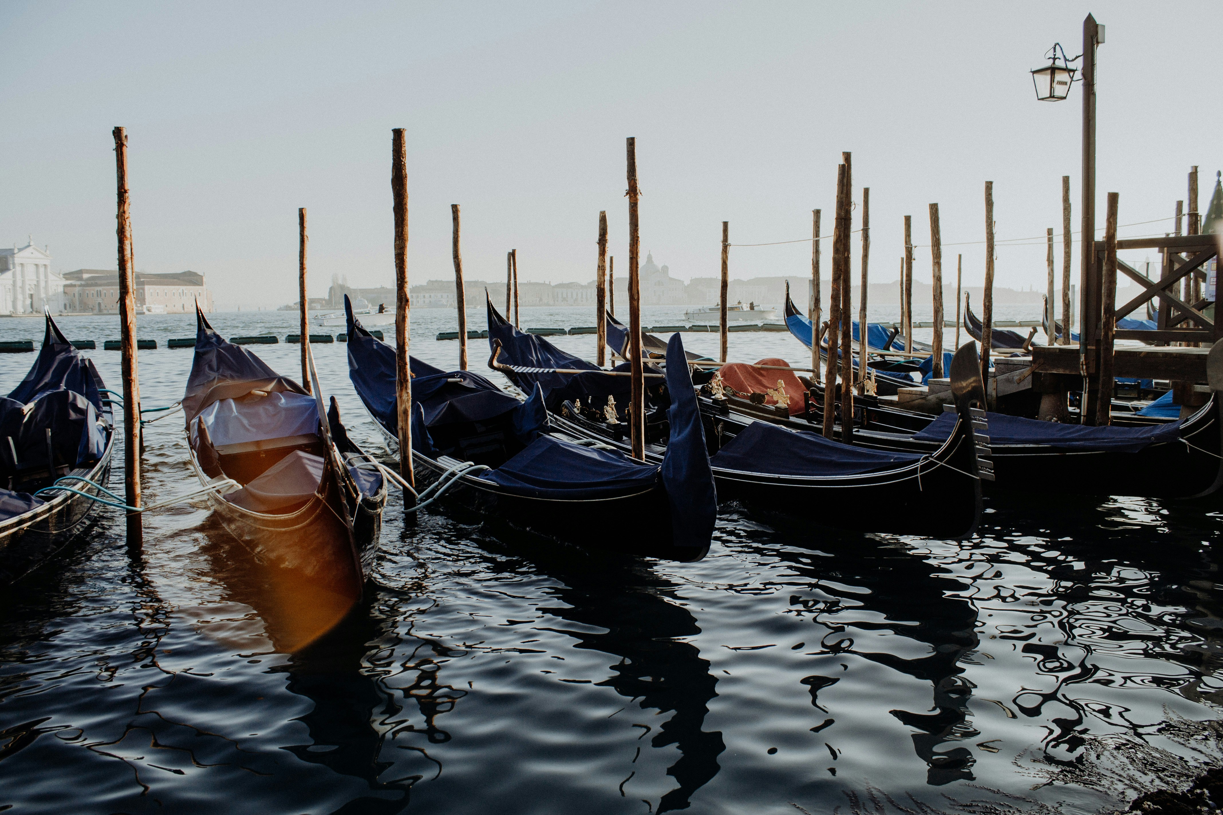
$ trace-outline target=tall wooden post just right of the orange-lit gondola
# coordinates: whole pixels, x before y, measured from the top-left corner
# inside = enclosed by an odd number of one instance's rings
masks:
[[[395,420],[399,429],[399,473],[416,486],[412,474],[412,373],[408,367],[407,294],[407,148],[404,128],[391,131],[390,192],[395,208]],[[302,337],[303,341],[309,337]],[[412,506],[404,494],[404,510]]]

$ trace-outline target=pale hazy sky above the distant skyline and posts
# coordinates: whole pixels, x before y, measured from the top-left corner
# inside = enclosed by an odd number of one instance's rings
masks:
[[[122,125],[138,269],[202,271],[221,308],[291,302],[306,206],[312,294],[333,274],[389,285],[390,131],[405,127],[413,283],[453,279],[453,203],[468,280],[499,279],[517,248],[522,279],[585,282],[600,209],[627,272],[635,136],[642,252],[674,276],[718,274],[723,220],[733,243],[788,241],[821,208],[830,232],[850,150],[855,198],[871,188],[872,281],[890,281],[903,216],[928,243],[931,202],[944,244],[983,239],[986,180],[999,238],[1060,232],[1063,175],[1077,228],[1080,88],[1038,103],[1029,71],[1054,40],[1080,53],[1088,11],[1107,24],[1098,224],[1109,191],[1121,224],[1169,217],[1192,164],[1205,209],[1223,108],[1186,43],[1221,29],[1223,4],[1097,6],[7,0],[0,246],[33,233],[56,269],[115,268]],[[953,275],[958,252],[980,285],[983,246],[945,246]],[[730,264],[810,274],[810,243],[733,248]],[[929,279],[928,249],[915,268]],[[999,248],[999,285],[1043,281],[1043,246]]]

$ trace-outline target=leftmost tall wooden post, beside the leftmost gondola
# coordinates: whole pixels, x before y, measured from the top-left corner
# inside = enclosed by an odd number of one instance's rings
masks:
[[[132,269],[132,205],[127,189],[127,131],[116,127],[115,176],[117,181],[119,330],[124,375],[124,496],[130,507],[141,505],[141,382],[136,364],[136,292]],[[143,516],[127,513],[127,545],[144,541]]]

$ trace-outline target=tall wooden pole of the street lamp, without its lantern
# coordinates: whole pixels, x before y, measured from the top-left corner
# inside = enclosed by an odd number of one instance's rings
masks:
[[[1079,367],[1084,375],[1082,423],[1095,417],[1096,393],[1088,376],[1088,351],[1099,335],[1099,270],[1096,269],[1096,46],[1099,26],[1087,15],[1082,21],[1082,183],[1079,191],[1080,288]],[[1066,329],[1069,331],[1069,329]],[[983,357],[982,359],[988,359]]]

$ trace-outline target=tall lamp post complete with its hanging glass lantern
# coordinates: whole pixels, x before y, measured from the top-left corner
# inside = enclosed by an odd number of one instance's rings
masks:
[[[1079,367],[1084,374],[1084,423],[1096,414],[1099,390],[1092,387],[1088,378],[1088,348],[1097,341],[1102,319],[1103,291],[1099,270],[1096,269],[1096,48],[1104,42],[1104,27],[1091,15],[1082,21],[1082,54],[1068,59],[1060,44],[1054,44],[1046,54],[1049,65],[1035,68],[1032,82],[1036,98],[1041,101],[1062,101],[1075,82],[1082,82],[1082,189],[1080,205],[1081,263],[1079,286],[1082,290],[1079,314]],[[1081,68],[1070,67],[1082,59]],[[1075,73],[1081,70],[1082,76]],[[1110,296],[1115,297],[1115,293]],[[1069,329],[1065,329],[1069,332]],[[1096,360],[1090,360],[1095,363]]]

